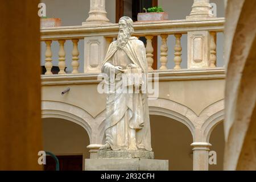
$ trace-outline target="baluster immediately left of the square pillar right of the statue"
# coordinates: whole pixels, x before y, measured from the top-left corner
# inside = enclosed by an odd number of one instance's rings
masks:
[[[174,35],[175,38],[176,38],[176,41],[175,41],[175,47],[174,47],[174,63],[175,63],[175,67],[174,69],[181,69],[180,67],[180,64],[181,64],[181,61],[182,61],[182,58],[181,58],[181,51],[182,51],[182,47],[181,47],[181,43],[180,43],[180,38],[182,36],[182,34],[175,34]]]

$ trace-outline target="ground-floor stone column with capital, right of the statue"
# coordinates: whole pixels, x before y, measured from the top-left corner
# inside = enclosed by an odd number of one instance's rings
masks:
[[[208,171],[209,150],[212,146],[207,142],[192,143],[193,147],[193,171]]]

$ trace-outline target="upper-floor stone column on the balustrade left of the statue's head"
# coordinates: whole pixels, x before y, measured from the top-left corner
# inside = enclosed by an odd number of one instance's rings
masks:
[[[106,16],[106,1],[105,0],[90,0],[90,11],[89,17],[86,19],[85,24],[94,24],[94,23],[109,23],[109,19]]]

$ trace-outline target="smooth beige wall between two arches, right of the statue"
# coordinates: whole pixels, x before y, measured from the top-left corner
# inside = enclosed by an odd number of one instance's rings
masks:
[[[161,81],[159,98],[189,107],[197,115],[205,107],[224,99],[224,80]]]

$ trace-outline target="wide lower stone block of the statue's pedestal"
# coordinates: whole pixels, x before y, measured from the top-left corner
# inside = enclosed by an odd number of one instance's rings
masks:
[[[85,159],[85,171],[168,171],[168,160]]]

